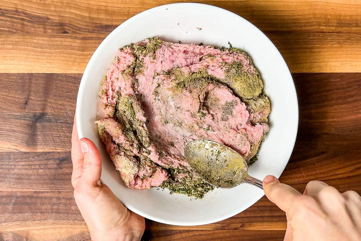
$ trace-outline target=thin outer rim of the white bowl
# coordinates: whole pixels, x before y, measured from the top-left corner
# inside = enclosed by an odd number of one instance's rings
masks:
[[[233,13],[231,12],[230,10],[227,10],[227,9],[223,9],[223,8],[220,8],[220,7],[216,7],[214,5],[210,5],[210,4],[203,4],[203,3],[171,3],[171,4],[165,4],[165,5],[160,5],[160,6],[157,6],[157,7],[154,7],[154,8],[150,8],[150,9],[147,9],[143,12],[140,12],[138,14],[136,14],[135,16],[129,18],[128,20],[124,21],[123,23],[121,23],[119,26],[117,26],[114,30],[112,30],[112,32],[110,32],[104,39],[103,41],[99,44],[99,46],[96,48],[96,50],[94,51],[93,55],[91,56],[90,60],[88,61],[88,64],[86,66],[86,68],[84,69],[84,72],[83,72],[83,76],[81,78],[81,82],[79,84],[79,89],[78,89],[78,96],[77,96],[77,103],[76,103],[76,111],[75,111],[75,115],[77,116],[76,118],[76,122],[77,122],[77,130],[78,130],[78,136],[79,136],[79,139],[84,137],[84,133],[83,133],[83,129],[82,129],[82,117],[80,115],[80,109],[81,109],[81,99],[83,98],[83,92],[84,92],[84,87],[85,87],[85,81],[86,79],[88,78],[89,76],[89,72],[90,72],[90,66],[93,65],[93,62],[96,61],[96,59],[98,58],[98,56],[101,54],[100,52],[100,49],[103,48],[103,45],[106,44],[107,40],[108,39],[111,39],[113,38],[113,35],[115,35],[116,33],[116,30],[118,28],[121,28],[123,25],[127,25],[127,24],[131,24],[132,22],[136,21],[137,19],[143,17],[143,15],[145,14],[148,14],[149,12],[152,12],[156,9],[160,9],[160,8],[166,8],[168,6],[175,6],[175,5],[183,5],[183,6],[189,6],[189,7],[194,7],[194,6],[197,6],[197,7],[201,7],[201,8],[213,8],[213,9],[217,9],[219,11],[223,11],[224,13],[226,14],[231,14],[235,17],[238,17],[240,18],[242,21],[245,21],[247,24],[251,25],[253,28],[255,28],[256,31],[258,31],[259,34],[263,35],[264,38],[270,43],[270,46],[272,48],[274,48],[275,52],[278,53],[279,57],[282,59],[281,61],[281,64],[284,65],[284,67],[286,67],[286,69],[288,70],[288,76],[290,77],[290,79],[292,80],[292,90],[293,90],[293,94],[295,96],[295,103],[296,103],[296,106],[295,106],[295,110],[296,110],[296,116],[295,116],[295,120],[296,121],[296,125],[295,125],[295,134],[292,138],[292,142],[293,142],[293,147],[292,149],[290,148],[290,151],[287,155],[285,156],[288,156],[288,160],[287,162],[285,162],[283,164],[283,167],[280,165],[280,167],[282,167],[282,172],[280,173],[280,175],[282,175],[284,169],[286,168],[286,165],[288,164],[289,160],[290,160],[290,157],[292,155],[292,152],[293,150],[295,149],[295,143],[296,143],[296,137],[297,137],[297,132],[298,132],[298,125],[299,125],[299,103],[298,103],[298,98],[297,98],[297,92],[296,92],[296,87],[295,87],[295,83],[293,81],[293,78],[292,78],[292,75],[291,75],[291,72],[290,72],[290,69],[288,68],[287,66],[287,63],[286,61],[284,60],[282,54],[279,52],[278,48],[274,45],[274,43],[260,30],[258,29],[258,27],[256,27],[255,25],[253,25],[251,22],[249,22],[248,20],[246,20],[245,18],[239,16],[238,14],[236,13]],[[279,175],[279,176],[280,176]],[[279,178],[279,176],[277,176],[277,178]],[[100,180],[102,181],[102,178],[100,178]],[[102,181],[103,182],[103,181]],[[263,197],[263,195],[260,195],[260,197],[258,199],[256,199],[256,202],[259,201],[259,199],[261,199]],[[256,202],[254,202],[252,205],[254,205]],[[251,207],[252,205],[248,206],[248,207]],[[165,223],[165,224],[170,224],[170,225],[179,225],[179,226],[195,226],[195,225],[205,225],[205,224],[210,224],[210,223],[216,223],[218,221],[221,221],[221,220],[225,220],[225,219],[228,219],[234,215],[237,215],[239,214],[240,212],[243,212],[245,209],[247,209],[248,207],[244,208],[243,210],[235,210],[234,212],[229,212],[228,214],[226,215],[223,215],[221,217],[218,217],[218,218],[214,218],[213,220],[211,221],[208,221],[208,222],[202,222],[202,221],[195,221],[195,220],[190,220],[190,222],[179,222],[179,221],[174,221],[174,220],[169,220],[169,219],[163,219],[163,218],[157,218],[157,217],[154,217],[152,215],[148,215],[147,213],[139,210],[138,208],[135,208],[133,207],[131,204],[127,203],[127,206],[126,206],[129,210],[135,212],[136,214],[139,214],[140,216],[143,216],[144,218],[147,218],[147,219],[150,219],[150,220],[153,220],[153,221],[157,221],[159,223]]]

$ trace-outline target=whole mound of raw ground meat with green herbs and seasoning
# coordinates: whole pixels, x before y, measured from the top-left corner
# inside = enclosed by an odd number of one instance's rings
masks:
[[[212,190],[184,159],[196,139],[253,163],[269,130],[270,103],[251,59],[237,48],[145,39],[119,49],[100,87],[99,134],[129,188]]]

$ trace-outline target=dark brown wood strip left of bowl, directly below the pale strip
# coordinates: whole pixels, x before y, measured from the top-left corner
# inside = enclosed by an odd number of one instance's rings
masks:
[[[0,74],[0,113],[74,112],[81,74]]]

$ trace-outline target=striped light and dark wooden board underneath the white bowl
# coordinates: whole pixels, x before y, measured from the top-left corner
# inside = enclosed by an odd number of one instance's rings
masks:
[[[0,241],[90,240],[70,184],[82,73],[116,26],[172,2],[0,0]],[[299,133],[280,180],[300,191],[316,179],[361,193],[361,1],[199,2],[259,27],[292,72]],[[144,240],[278,241],[285,228],[284,213],[264,197],[204,226],[147,220]]]

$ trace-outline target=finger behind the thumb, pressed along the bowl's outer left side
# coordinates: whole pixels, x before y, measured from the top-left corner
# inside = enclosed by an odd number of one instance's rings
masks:
[[[77,120],[74,116],[73,132],[71,134],[71,161],[73,162],[73,173],[71,174],[71,184],[75,188],[83,172],[84,154],[80,146],[77,130]]]

